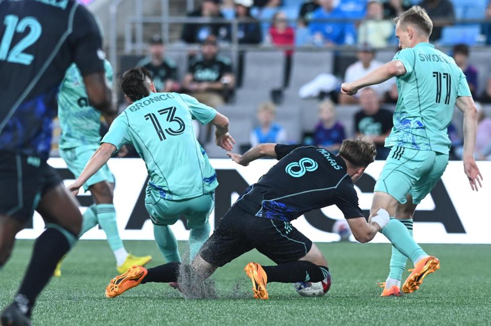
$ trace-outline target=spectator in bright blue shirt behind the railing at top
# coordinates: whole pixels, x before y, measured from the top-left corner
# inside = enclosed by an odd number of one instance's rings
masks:
[[[346,13],[334,7],[333,2],[334,0],[319,0],[321,7],[313,12],[312,20],[347,18]],[[308,27],[318,46],[354,44],[356,40],[356,31],[351,22],[311,21]]]

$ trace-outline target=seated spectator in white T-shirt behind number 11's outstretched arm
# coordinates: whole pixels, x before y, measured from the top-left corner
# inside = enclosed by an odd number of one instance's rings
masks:
[[[358,46],[358,52],[356,53],[359,61],[356,61],[346,69],[344,74],[344,81],[351,83],[357,79],[366,76],[376,68],[384,65],[383,62],[374,59],[375,51],[369,44],[360,44]],[[382,96],[391,88],[395,83],[394,79],[390,79],[382,84],[373,85],[371,88],[376,91],[377,95]],[[360,93],[358,93],[360,94]],[[357,94],[357,95],[358,95]],[[356,104],[358,103],[359,96],[348,96],[345,94],[339,94],[339,103],[341,104]]]

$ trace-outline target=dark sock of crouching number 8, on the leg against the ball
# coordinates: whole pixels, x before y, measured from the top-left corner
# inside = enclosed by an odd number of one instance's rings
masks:
[[[321,282],[329,269],[304,260],[284,263],[277,266],[262,266],[267,275],[267,283]]]

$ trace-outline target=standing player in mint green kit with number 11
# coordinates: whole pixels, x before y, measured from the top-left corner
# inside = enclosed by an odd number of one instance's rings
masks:
[[[454,60],[429,43],[433,23],[424,9],[415,6],[395,18],[401,50],[394,59],[352,83],[341,85],[347,95],[360,88],[397,79],[399,98],[394,127],[385,146],[391,148],[375,184],[371,211],[382,207],[392,216],[382,230],[392,246],[390,273],[382,296],[400,295],[400,280],[406,267],[401,252],[413,252],[414,269],[402,286],[405,293],[419,288],[423,279],[440,267],[412,239],[416,206],[430,193],[449,161],[447,127],[457,105],[464,114],[464,172],[472,190],[481,186],[481,173],[474,160],[477,112],[462,70]]]

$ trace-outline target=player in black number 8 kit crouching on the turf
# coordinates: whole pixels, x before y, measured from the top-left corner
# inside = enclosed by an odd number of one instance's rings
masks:
[[[228,153],[247,166],[263,158],[279,162],[250,186],[220,220],[191,263],[197,278],[208,278],[218,267],[256,248],[276,266],[251,262],[245,266],[253,283],[255,298],[267,299],[267,282],[330,283],[327,261],[319,248],[292,226],[304,213],[336,205],[348,220],[356,240],[364,243],[389,223],[380,210],[369,222],[358,206],[353,182],[358,180],[376,155],[371,140],[345,140],[338,156],[315,146],[260,144],[243,156]],[[106,288],[106,296],[149,282],[176,282],[181,263],[149,268],[133,266],[117,276]]]

